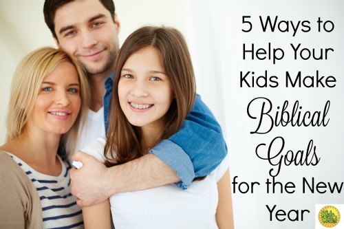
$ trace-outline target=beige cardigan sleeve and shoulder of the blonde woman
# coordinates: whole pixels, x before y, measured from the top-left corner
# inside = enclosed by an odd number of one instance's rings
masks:
[[[43,228],[36,188],[19,165],[0,151],[0,228]]]

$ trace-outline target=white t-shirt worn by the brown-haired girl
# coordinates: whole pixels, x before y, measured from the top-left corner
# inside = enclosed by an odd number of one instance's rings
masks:
[[[98,138],[83,152],[104,162],[105,142],[105,138]],[[215,171],[204,180],[193,182],[186,190],[168,184],[112,195],[110,204],[115,228],[217,228],[217,182],[226,172],[228,164],[227,155]]]

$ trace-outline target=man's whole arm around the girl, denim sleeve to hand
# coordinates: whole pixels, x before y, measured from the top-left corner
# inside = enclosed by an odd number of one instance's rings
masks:
[[[184,126],[169,140],[163,140],[149,154],[106,168],[94,157],[78,152],[72,159],[83,162],[72,169],[72,194],[78,205],[89,206],[111,195],[179,182],[187,188],[196,177],[211,173],[226,156],[222,131],[213,114],[197,96]],[[99,151],[100,156],[103,151]],[[98,158],[98,157],[97,157]]]

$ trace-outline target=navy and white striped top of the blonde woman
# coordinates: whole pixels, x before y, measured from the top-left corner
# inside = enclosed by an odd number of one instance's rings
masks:
[[[84,228],[81,208],[76,205],[76,197],[71,193],[67,160],[61,160],[62,172],[57,177],[34,170],[19,157],[8,153],[31,179],[39,193],[43,213],[43,228]]]

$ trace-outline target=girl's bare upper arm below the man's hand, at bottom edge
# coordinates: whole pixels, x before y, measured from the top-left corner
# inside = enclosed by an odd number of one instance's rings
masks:
[[[100,204],[83,207],[85,228],[111,229],[111,215],[109,199]]]

